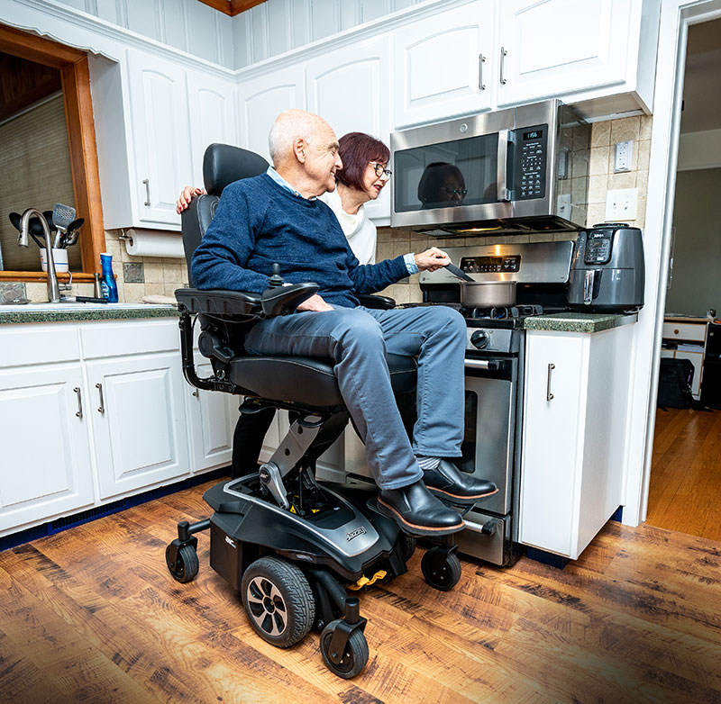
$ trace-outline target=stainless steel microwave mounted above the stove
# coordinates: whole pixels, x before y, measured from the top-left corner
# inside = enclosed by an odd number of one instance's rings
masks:
[[[440,237],[580,230],[590,125],[559,100],[390,136],[391,227]]]

